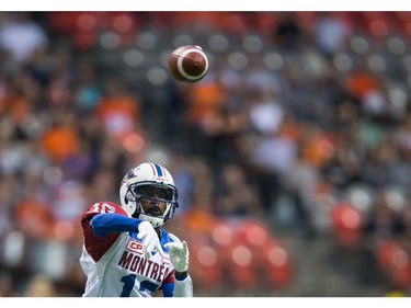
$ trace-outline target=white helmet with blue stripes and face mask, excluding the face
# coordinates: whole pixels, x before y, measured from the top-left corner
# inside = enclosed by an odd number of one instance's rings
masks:
[[[141,186],[153,186],[165,190],[164,199],[167,207],[161,216],[153,216],[145,213],[141,206],[141,199],[156,201],[153,198],[144,197],[139,193]],[[155,228],[162,226],[164,223],[173,218],[174,210],[179,207],[176,202],[178,191],[174,186],[174,180],[170,172],[162,166],[157,163],[144,162],[136,168],[129,170],[123,178],[119,186],[119,199],[122,207],[133,217],[149,221]]]

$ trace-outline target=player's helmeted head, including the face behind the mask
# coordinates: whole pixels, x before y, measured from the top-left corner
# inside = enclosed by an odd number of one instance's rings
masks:
[[[149,221],[155,228],[174,216],[178,191],[170,172],[155,163],[141,163],[123,178],[122,207],[133,217]],[[146,210],[145,210],[146,209]]]

